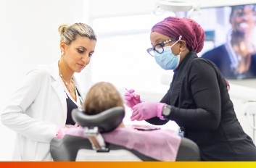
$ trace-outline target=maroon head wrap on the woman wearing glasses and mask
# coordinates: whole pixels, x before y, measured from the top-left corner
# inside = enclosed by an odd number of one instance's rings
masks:
[[[197,53],[202,51],[205,41],[205,31],[189,18],[167,17],[153,26],[152,32],[176,38],[182,35],[181,40],[186,41],[187,48]]]

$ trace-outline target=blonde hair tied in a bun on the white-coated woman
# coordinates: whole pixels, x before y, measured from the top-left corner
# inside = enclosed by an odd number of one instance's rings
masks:
[[[87,37],[94,41],[97,40],[94,30],[90,26],[80,22],[75,23],[73,25],[60,25],[59,35],[60,41],[65,41],[65,43],[67,44],[70,44],[72,41],[75,41],[77,35]]]

